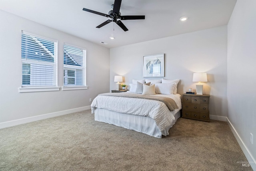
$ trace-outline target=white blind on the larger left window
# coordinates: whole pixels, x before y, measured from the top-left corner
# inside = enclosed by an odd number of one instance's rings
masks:
[[[57,86],[57,42],[22,32],[22,87]]]

